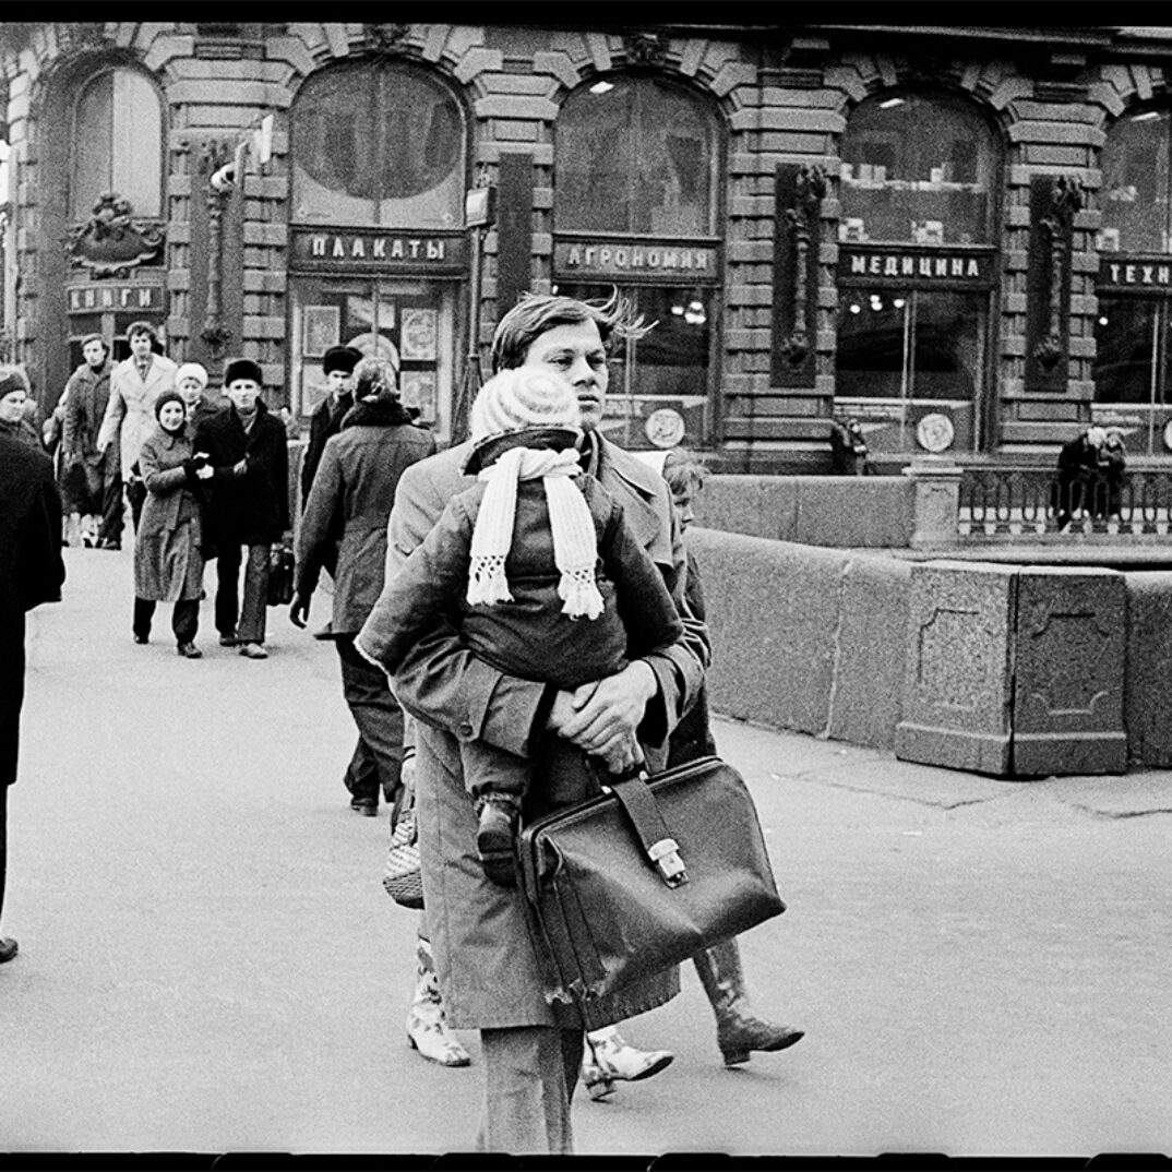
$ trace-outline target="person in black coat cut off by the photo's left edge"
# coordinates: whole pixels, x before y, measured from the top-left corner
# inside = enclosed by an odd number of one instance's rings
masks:
[[[0,913],[8,853],[8,786],[16,781],[25,699],[25,614],[61,599],[61,495],[43,452],[0,436]],[[0,963],[16,941],[0,939]]]

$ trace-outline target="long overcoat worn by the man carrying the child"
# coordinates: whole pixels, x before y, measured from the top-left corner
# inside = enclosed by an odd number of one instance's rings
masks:
[[[626,516],[663,572],[683,620],[681,641],[645,662],[659,695],[640,728],[648,762],[659,768],[670,729],[695,700],[708,666],[708,629],[686,613],[683,547],[667,484],[632,456],[598,440],[587,468],[622,500]],[[387,548],[388,580],[427,536],[454,492],[473,483],[462,473],[470,447],[461,444],[409,468],[398,484]],[[357,638],[379,662],[394,614],[376,604]],[[526,817],[572,804],[598,791],[585,756],[544,728],[546,686],[507,676],[475,659],[451,628],[420,640],[394,676],[395,695],[421,722],[417,729],[416,803],[428,927],[448,1021],[456,1028],[580,1026],[622,1021],[669,1001],[680,988],[673,967],[600,1002],[584,1022],[573,1008],[551,1006],[543,965],[518,888],[490,883],[476,853],[477,819],[461,772],[459,742],[483,740],[520,756],[547,750],[550,766],[531,788]],[[541,743],[536,743],[541,742]]]

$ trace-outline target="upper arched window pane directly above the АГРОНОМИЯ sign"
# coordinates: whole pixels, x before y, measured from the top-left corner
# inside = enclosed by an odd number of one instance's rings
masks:
[[[720,165],[707,103],[657,77],[608,77],[558,115],[554,229],[711,236]]]

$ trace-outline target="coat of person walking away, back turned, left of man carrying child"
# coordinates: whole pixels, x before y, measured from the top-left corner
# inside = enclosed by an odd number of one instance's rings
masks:
[[[390,397],[356,403],[342,430],[327,440],[298,534],[297,592],[308,600],[322,568],[331,570],[335,636],[356,634],[377,601],[398,478],[435,447],[431,432],[414,427]]]

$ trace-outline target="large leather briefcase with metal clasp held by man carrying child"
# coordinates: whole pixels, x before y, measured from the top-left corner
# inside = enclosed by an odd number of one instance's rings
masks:
[[[744,778],[717,757],[546,815],[518,840],[546,996],[590,1002],[779,915]]]

